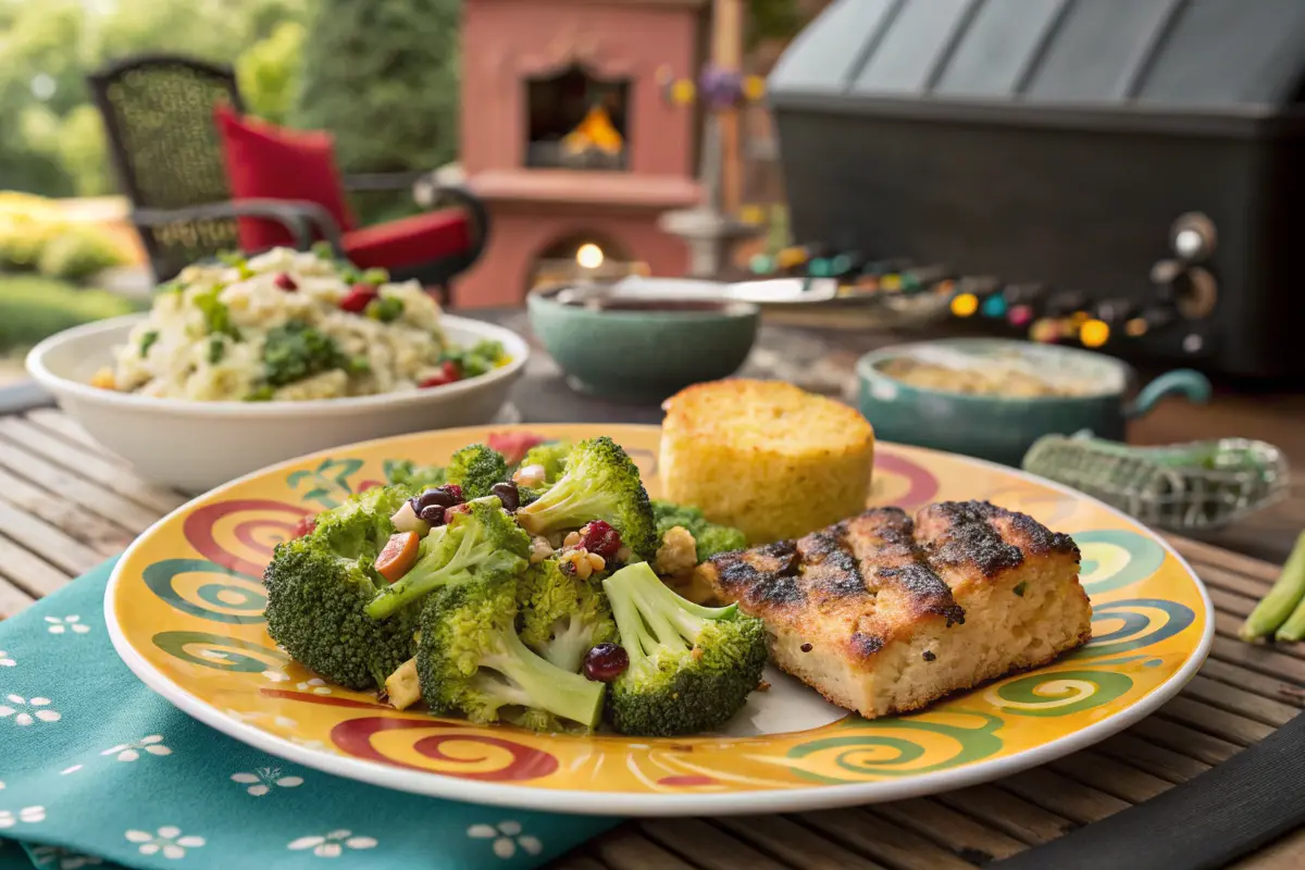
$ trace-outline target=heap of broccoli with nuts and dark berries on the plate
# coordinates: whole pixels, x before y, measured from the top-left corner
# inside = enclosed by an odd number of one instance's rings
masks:
[[[510,436],[386,476],[264,575],[269,634],[321,677],[399,710],[646,737],[718,729],[761,686],[762,621],[668,586],[741,532],[651,501],[611,438]]]

